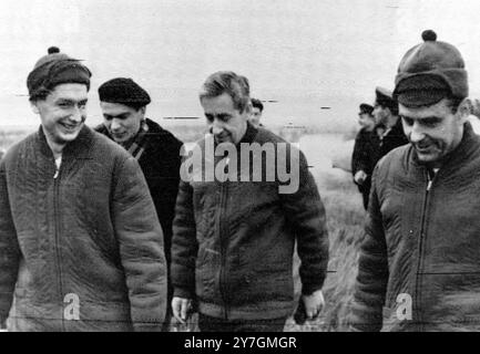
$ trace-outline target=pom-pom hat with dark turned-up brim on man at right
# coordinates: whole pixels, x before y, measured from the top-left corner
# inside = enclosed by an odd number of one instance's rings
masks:
[[[432,105],[445,97],[468,96],[463,59],[453,45],[437,41],[437,34],[422,32],[423,43],[404,55],[395,80],[394,95],[408,107]]]

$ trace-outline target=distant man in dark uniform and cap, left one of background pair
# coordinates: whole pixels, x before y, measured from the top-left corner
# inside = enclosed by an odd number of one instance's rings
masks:
[[[358,113],[358,124],[360,131],[357,133],[351,155],[351,174],[354,181],[358,186],[364,200],[364,208],[368,208],[368,196],[370,194],[371,173],[374,171],[372,154],[372,135],[375,128],[375,118],[372,116],[374,107],[369,104],[360,104]]]

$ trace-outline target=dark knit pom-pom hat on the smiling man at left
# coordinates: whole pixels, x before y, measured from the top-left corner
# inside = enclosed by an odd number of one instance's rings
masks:
[[[48,55],[40,58],[27,77],[27,87],[31,101],[44,98],[57,85],[79,83],[90,90],[92,73],[79,60],[60,53],[57,46],[48,50]]]

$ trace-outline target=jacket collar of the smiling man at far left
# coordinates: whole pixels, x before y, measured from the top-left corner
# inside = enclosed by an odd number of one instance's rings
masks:
[[[93,143],[93,134],[92,129],[83,124],[76,138],[68,143],[63,148],[62,159],[88,158]],[[40,152],[47,157],[53,157],[53,153],[47,143],[47,137],[41,125],[38,131],[38,142],[40,144]]]

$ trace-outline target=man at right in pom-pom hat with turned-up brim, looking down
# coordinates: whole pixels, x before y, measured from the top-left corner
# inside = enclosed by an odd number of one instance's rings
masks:
[[[432,31],[401,60],[395,96],[409,145],[374,171],[351,327],[480,330],[480,137],[458,110],[463,59]]]

